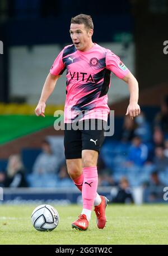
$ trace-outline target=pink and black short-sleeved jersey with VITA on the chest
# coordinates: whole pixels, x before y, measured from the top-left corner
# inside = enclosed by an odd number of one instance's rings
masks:
[[[110,50],[94,44],[90,50],[76,50],[74,44],[64,47],[50,73],[61,75],[67,70],[64,122],[97,118],[108,119],[108,89],[111,71],[119,78],[129,70]]]

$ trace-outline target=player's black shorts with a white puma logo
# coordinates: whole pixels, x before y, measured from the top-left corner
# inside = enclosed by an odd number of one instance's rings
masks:
[[[93,127],[95,123],[95,127]],[[106,122],[100,119],[87,119],[76,123],[74,131],[71,124],[65,124],[64,148],[66,159],[82,158],[82,150],[100,151],[104,142]],[[91,126],[92,124],[92,126]]]

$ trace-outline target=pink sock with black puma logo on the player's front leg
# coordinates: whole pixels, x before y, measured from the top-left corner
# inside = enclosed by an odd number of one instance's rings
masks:
[[[83,209],[92,210],[96,197],[98,175],[97,167],[83,168],[82,199]]]

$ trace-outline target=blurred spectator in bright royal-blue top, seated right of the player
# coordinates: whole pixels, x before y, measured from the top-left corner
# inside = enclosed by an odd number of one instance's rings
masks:
[[[132,146],[130,146],[128,152],[128,158],[126,165],[142,166],[148,158],[148,148],[141,141],[141,138],[134,137],[132,140]]]

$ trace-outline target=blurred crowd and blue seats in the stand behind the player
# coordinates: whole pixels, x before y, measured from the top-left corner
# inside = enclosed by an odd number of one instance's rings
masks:
[[[163,188],[168,186],[168,96],[153,123],[148,122],[143,111],[134,120],[125,116],[118,137],[114,137],[105,139],[99,155],[99,186],[111,186],[111,200],[115,203],[133,202],[132,190],[137,188],[139,200],[161,202]],[[28,165],[22,157],[29,161]],[[64,159],[63,137],[46,136],[41,149],[11,155],[6,169],[1,168],[0,184],[73,187]]]

